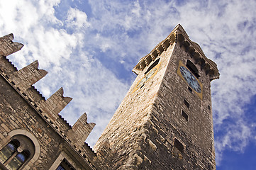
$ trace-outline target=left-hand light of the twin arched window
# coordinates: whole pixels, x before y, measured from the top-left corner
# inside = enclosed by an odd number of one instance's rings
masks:
[[[17,152],[20,142],[18,140],[11,140],[3,149],[0,151],[0,162],[4,164],[15,152]]]

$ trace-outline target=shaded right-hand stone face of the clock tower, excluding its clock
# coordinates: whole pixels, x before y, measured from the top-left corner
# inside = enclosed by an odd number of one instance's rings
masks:
[[[204,70],[199,69],[199,81],[204,84],[201,100],[178,76],[180,60],[186,63],[192,59],[177,44],[146,126],[145,141],[150,141],[154,149],[142,148],[141,159],[145,156],[150,159],[149,169],[215,169],[213,123],[208,108],[211,106],[210,80]],[[189,108],[184,99],[189,102]],[[182,111],[187,113],[188,120],[182,116]],[[183,145],[182,152],[174,147],[175,139]]]

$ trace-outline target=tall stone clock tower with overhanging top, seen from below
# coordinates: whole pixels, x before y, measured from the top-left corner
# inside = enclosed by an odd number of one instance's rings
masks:
[[[111,169],[216,169],[216,64],[178,25],[133,68],[138,77],[94,147]]]

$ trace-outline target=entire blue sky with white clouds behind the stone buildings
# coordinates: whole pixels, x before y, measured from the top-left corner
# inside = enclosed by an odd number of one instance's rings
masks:
[[[86,112],[95,144],[135,79],[131,69],[178,23],[218,64],[212,82],[217,169],[256,167],[256,1],[0,1],[0,35],[23,49],[18,69],[38,60],[49,73],[35,84],[50,97],[63,86],[71,125]]]

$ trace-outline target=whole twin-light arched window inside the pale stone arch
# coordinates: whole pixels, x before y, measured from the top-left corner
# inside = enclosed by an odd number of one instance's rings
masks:
[[[17,170],[26,164],[35,154],[35,145],[24,135],[15,135],[0,151],[1,166]]]

